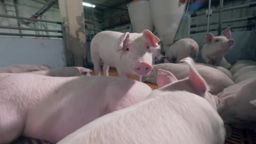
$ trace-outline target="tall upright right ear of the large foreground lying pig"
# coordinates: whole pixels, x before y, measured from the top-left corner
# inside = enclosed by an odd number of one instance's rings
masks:
[[[189,65],[189,82],[192,87],[200,93],[201,96],[204,95],[205,91],[208,90],[208,86],[205,80],[199,75],[195,70],[195,62],[190,57],[181,59],[179,62],[186,62]]]

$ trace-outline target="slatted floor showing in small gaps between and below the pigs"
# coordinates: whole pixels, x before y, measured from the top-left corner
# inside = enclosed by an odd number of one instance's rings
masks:
[[[91,73],[94,75],[94,72]],[[103,72],[101,71],[101,75]],[[109,76],[118,77],[117,71],[114,68],[109,69]],[[134,79],[134,75],[130,75],[129,78]],[[157,85],[147,83],[152,89],[157,89]],[[26,137],[20,137],[16,141],[13,141],[11,144],[51,144],[47,141],[42,141],[38,139],[29,139]],[[256,144],[256,134],[253,131],[249,130],[237,130],[232,129],[231,138],[225,141],[225,144]]]

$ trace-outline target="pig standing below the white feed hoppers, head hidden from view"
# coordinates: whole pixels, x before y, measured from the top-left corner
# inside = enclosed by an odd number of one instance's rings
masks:
[[[178,40],[169,48],[164,47],[166,59],[171,63],[177,63],[188,56],[196,60],[198,50],[199,47],[197,42],[191,38]]]

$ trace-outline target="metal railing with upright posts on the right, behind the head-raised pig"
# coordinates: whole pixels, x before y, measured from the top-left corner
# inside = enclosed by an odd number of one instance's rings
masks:
[[[229,20],[224,20],[224,21],[222,21],[222,19],[221,19],[222,12],[224,12],[224,11],[231,11],[231,10],[240,9],[240,8],[250,8],[250,7],[255,7],[255,6],[256,6],[256,3],[249,3],[249,4],[245,4],[245,5],[223,8],[223,0],[219,0],[219,9],[216,10],[216,11],[210,12],[211,11],[211,0],[209,0],[209,6],[208,6],[208,11],[207,12],[205,12],[205,13],[193,13],[189,16],[190,19],[188,20],[188,37],[190,36],[190,34],[196,34],[196,33],[202,33],[202,32],[211,32],[211,31],[218,31],[218,35],[221,35],[221,30],[224,29],[224,28],[222,28],[222,24],[237,22],[237,21],[255,20],[256,15],[255,16],[244,17],[244,18],[229,19]],[[210,23],[211,13],[219,13],[218,22],[211,22]],[[205,24],[191,24],[191,18],[192,17],[203,16],[203,15],[206,15],[208,17],[207,23],[205,23]],[[214,25],[214,24],[218,24],[218,27],[216,29],[210,29],[209,26]],[[194,31],[190,30],[191,28],[203,27],[203,26],[207,26],[207,29],[206,30],[194,30]],[[256,25],[255,24],[246,24],[246,25],[241,25],[241,26],[233,26],[231,28],[232,29],[238,29],[238,28],[248,28],[248,27],[256,27]]]

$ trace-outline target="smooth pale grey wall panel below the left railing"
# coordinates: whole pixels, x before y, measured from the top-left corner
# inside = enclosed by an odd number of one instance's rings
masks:
[[[0,37],[0,67],[13,64],[66,66],[62,40]]]

